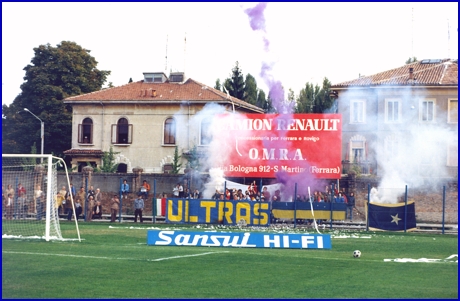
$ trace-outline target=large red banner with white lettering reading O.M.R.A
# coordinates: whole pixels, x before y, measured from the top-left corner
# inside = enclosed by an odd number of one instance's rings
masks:
[[[227,177],[274,178],[286,172],[340,178],[339,114],[222,114],[213,128],[218,164]]]

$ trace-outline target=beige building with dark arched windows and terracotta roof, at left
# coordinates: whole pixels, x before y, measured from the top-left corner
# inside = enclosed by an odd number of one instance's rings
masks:
[[[171,168],[175,147],[179,155],[196,147],[205,152],[209,114],[220,110],[263,113],[183,73],[144,73],[144,79],[120,87],[69,97],[73,109],[72,148],[64,152],[72,167],[87,162],[101,166],[103,152],[117,152],[118,172],[162,173]],[[182,171],[187,163],[182,156]]]

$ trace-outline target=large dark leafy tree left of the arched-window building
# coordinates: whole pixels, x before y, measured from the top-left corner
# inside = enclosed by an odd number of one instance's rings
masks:
[[[71,147],[72,108],[62,100],[101,90],[110,71],[97,69],[90,50],[75,42],[40,45],[33,50],[31,63],[24,68],[21,93],[11,105],[2,106],[2,149],[4,153],[28,153],[33,143],[41,143],[40,122],[24,111],[27,108],[45,123],[45,153],[63,157]]]

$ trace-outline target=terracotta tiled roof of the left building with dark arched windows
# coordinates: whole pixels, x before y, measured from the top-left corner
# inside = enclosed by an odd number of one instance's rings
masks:
[[[107,88],[87,94],[72,96],[64,99],[64,103],[136,103],[136,104],[172,104],[182,102],[192,103],[225,103],[247,110],[263,113],[263,109],[249,104],[238,98],[227,96],[217,89],[206,86],[193,79],[185,82],[132,82],[123,86]]]

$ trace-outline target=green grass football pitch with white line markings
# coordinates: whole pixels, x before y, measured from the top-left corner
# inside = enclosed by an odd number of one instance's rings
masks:
[[[2,297],[458,299],[454,235],[322,231],[331,250],[301,250],[146,244],[148,229],[211,226],[79,227],[82,242],[2,239]],[[75,224],[61,229],[76,238]]]

